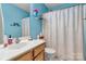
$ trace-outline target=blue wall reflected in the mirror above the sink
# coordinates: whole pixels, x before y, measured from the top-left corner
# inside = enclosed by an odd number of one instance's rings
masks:
[[[12,35],[12,37],[21,37],[22,26],[11,26],[11,24],[16,22],[22,25],[22,18],[29,16],[29,14],[11,3],[3,3],[2,11],[4,18],[4,34],[8,36]]]

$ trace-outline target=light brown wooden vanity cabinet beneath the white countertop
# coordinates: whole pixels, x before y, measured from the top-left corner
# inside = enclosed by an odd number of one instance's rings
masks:
[[[13,61],[44,61],[45,60],[45,43],[41,43],[28,52],[13,59]]]

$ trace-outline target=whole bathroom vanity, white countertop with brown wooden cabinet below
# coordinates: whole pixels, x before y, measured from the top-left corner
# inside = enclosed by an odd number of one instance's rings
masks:
[[[20,47],[19,47],[20,46]],[[24,46],[24,47],[23,47]],[[0,50],[0,61],[44,61],[45,40],[16,43]]]

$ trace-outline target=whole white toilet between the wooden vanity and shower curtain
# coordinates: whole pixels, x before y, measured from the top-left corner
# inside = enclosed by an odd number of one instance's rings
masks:
[[[45,59],[46,61],[53,61],[53,56],[56,53],[56,50],[52,48],[45,48]]]

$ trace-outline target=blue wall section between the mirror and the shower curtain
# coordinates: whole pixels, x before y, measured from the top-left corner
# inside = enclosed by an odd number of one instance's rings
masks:
[[[34,16],[34,10],[38,9],[39,13],[38,15],[41,15],[45,12],[48,12],[48,9],[44,3],[32,3],[30,4],[30,36],[32,38],[36,39],[37,35],[41,33],[42,22],[35,18]]]

